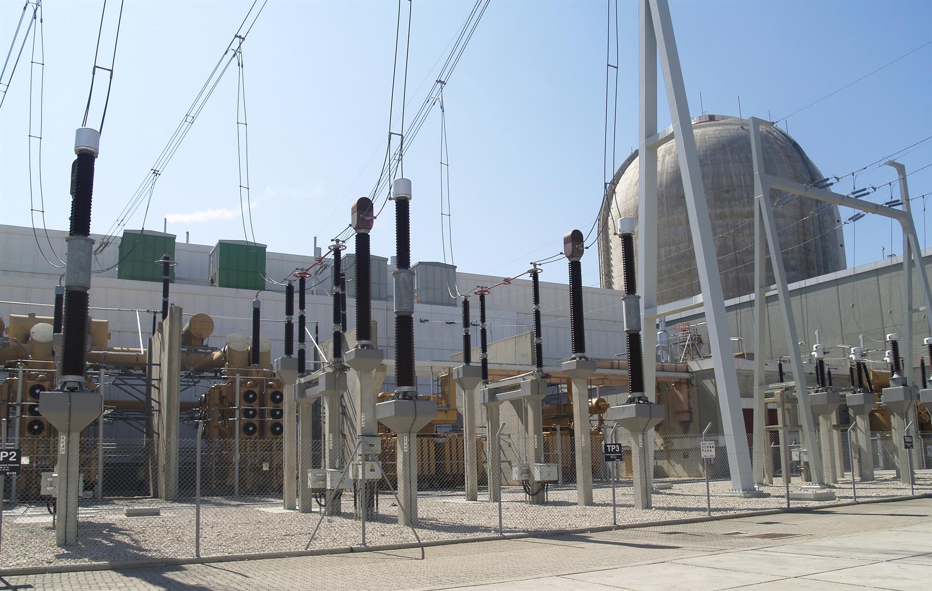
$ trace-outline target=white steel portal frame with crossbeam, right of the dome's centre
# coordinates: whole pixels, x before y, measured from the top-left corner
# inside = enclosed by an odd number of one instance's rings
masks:
[[[900,342],[903,343],[903,358],[906,360],[906,363],[903,367],[904,378],[907,379],[907,382],[910,380],[911,376],[911,343],[909,337],[911,337],[910,323],[912,312],[919,311],[913,310],[912,307],[912,297],[911,297],[911,287],[912,287],[912,266],[915,265],[919,274],[919,281],[922,283],[923,290],[923,299],[925,302],[925,309],[932,310],[932,289],[929,287],[928,275],[925,271],[925,265],[922,259],[922,249],[919,245],[919,237],[916,234],[916,228],[912,221],[912,213],[909,207],[909,190],[905,183],[906,171],[905,168],[898,162],[887,162],[890,166],[893,166],[897,169],[899,174],[900,182],[900,195],[903,199],[903,210],[894,209],[892,207],[887,207],[884,205],[879,205],[877,203],[871,203],[870,201],[865,201],[861,199],[855,199],[853,197],[848,197],[846,195],[841,195],[839,193],[834,193],[828,189],[817,189],[812,186],[802,185],[802,183],[797,183],[795,181],[790,181],[788,179],[778,178],[771,176],[763,171],[763,152],[761,147],[761,126],[771,127],[774,124],[770,121],[764,121],[757,117],[750,117],[751,125],[751,153],[753,155],[753,164],[754,164],[754,190],[756,194],[755,201],[757,202],[755,214],[760,211],[762,213],[761,222],[756,227],[757,235],[755,240],[757,241],[756,248],[759,249],[759,255],[757,257],[757,268],[755,275],[757,277],[757,296],[755,297],[755,314],[759,319],[764,318],[765,314],[765,296],[766,292],[769,291],[769,286],[764,286],[763,273],[765,272],[762,265],[762,254],[760,253],[761,246],[761,230],[765,231],[767,234],[767,241],[770,247],[771,253],[771,264],[774,268],[774,280],[776,281],[776,289],[781,301],[781,311],[783,313],[784,327],[787,332],[788,345],[790,346],[791,359],[793,370],[793,378],[796,381],[796,390],[797,398],[800,405],[800,418],[802,422],[802,431],[803,431],[803,441],[806,447],[811,450],[816,450],[816,447],[812,443],[805,442],[805,438],[811,437],[815,433],[814,419],[812,412],[809,406],[808,391],[806,390],[805,378],[802,373],[802,359],[800,357],[799,350],[799,341],[796,338],[796,325],[793,319],[792,306],[789,301],[789,291],[786,278],[786,269],[783,266],[783,257],[780,252],[779,243],[776,238],[776,228],[773,218],[773,210],[770,204],[770,189],[776,189],[779,191],[786,191],[793,195],[798,195],[801,197],[808,197],[811,199],[817,199],[819,201],[825,201],[827,203],[833,203],[835,205],[841,205],[851,209],[858,210],[860,212],[866,213],[876,213],[877,215],[882,215],[894,220],[897,220],[899,226],[902,228],[903,232],[903,331],[902,335],[904,337]],[[929,333],[932,334],[932,318],[929,314],[925,314],[925,321]],[[761,339],[762,335],[758,334],[758,350],[761,351]],[[762,355],[758,355],[762,360]],[[758,385],[758,388],[761,388],[763,385],[763,372],[762,364],[755,364],[755,382]],[[762,395],[762,392],[761,392]],[[757,425],[755,425],[755,430]],[[816,464],[813,463],[813,460],[816,460]],[[821,465],[818,463],[818,454],[810,454],[810,466],[812,468],[813,480],[816,482],[821,482]],[[816,479],[817,474],[817,479]]]

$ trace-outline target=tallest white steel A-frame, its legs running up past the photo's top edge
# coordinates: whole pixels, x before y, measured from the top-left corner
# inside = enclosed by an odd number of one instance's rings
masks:
[[[738,492],[754,490],[750,454],[745,436],[741,392],[732,354],[732,340],[725,299],[721,289],[719,261],[708,215],[706,189],[703,186],[692,117],[686,100],[679,65],[676,37],[667,0],[640,0],[640,89],[637,152],[639,167],[637,233],[638,279],[644,304],[644,390],[653,401],[656,397],[656,341],[654,325],[657,307],[657,148],[676,139],[679,170],[686,194],[686,211],[692,231],[699,284],[706,307],[709,342],[715,363],[715,381],[721,411],[722,431],[728,450],[732,486]],[[673,125],[657,131],[657,54],[664,72],[666,97]],[[648,432],[649,441],[651,440]],[[651,446],[652,447],[652,446]]]

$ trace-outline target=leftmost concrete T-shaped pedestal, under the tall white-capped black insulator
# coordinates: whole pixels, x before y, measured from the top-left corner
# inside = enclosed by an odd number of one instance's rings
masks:
[[[39,412],[59,431],[58,508],[55,543],[77,543],[77,502],[80,498],[81,432],[101,415],[102,396],[97,392],[42,392]],[[6,435],[4,435],[6,440]]]

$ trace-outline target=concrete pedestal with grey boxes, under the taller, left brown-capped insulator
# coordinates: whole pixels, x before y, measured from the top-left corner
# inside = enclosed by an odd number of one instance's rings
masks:
[[[376,369],[382,364],[385,354],[380,349],[356,349],[347,351],[343,357],[345,364],[349,365],[351,376],[349,383],[349,396],[356,407],[358,415],[356,419],[357,435],[361,437],[377,437],[378,421],[376,419],[376,401],[377,388],[381,386],[382,380],[376,384]],[[377,461],[378,453],[368,453],[364,450],[360,452],[360,458],[351,458],[350,461]],[[329,467],[329,466],[328,466]],[[355,516],[357,519],[362,518],[363,508],[365,515],[373,515],[376,512],[376,488],[370,486],[367,479],[362,478],[357,483],[359,497],[356,500]]]

